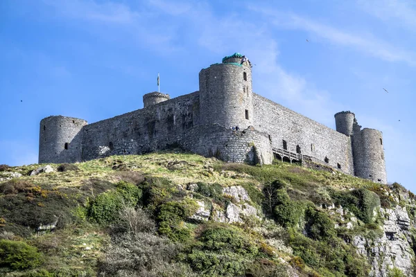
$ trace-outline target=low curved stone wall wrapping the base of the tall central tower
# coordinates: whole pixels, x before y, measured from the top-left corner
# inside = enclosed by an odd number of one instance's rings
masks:
[[[268,135],[253,127],[232,131],[218,124],[199,125],[184,135],[181,146],[202,156],[227,162],[270,164],[273,160]]]

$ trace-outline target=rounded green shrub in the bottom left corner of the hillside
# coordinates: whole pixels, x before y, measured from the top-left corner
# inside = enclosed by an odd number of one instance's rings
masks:
[[[0,240],[0,267],[28,269],[42,265],[42,253],[25,242]]]

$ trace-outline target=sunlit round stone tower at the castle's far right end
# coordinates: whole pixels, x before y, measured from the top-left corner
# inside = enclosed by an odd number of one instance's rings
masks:
[[[364,128],[352,136],[354,170],[357,177],[387,184],[385,172],[383,134],[379,130]]]

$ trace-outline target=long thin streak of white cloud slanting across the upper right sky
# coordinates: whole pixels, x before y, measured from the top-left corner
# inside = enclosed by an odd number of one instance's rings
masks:
[[[371,33],[357,35],[291,12],[257,7],[250,7],[250,9],[259,12],[263,16],[270,17],[272,24],[277,28],[291,28],[311,33],[311,35],[318,38],[317,42],[329,42],[334,45],[353,48],[356,51],[388,62],[404,62],[410,66],[416,66],[415,52],[397,48],[395,45],[377,39]]]

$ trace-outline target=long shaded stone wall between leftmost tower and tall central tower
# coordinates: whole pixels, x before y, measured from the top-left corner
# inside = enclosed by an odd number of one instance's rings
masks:
[[[194,92],[92,123],[83,129],[83,160],[166,149],[198,121],[199,93]]]

